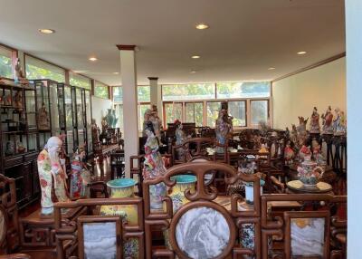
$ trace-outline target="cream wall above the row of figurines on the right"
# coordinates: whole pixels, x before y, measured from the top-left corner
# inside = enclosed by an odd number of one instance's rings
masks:
[[[273,128],[291,129],[314,106],[320,115],[329,105],[346,111],[346,103],[346,58],[340,58],[272,83]]]

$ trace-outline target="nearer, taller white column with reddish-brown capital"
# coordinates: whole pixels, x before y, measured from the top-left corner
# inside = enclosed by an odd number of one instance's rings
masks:
[[[120,75],[123,88],[123,125],[126,177],[129,157],[138,155],[138,101],[135,45],[117,45],[120,53]]]

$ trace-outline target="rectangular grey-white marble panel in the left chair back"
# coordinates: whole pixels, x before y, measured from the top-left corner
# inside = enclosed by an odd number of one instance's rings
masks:
[[[117,254],[116,223],[87,223],[83,225],[84,258],[113,259]]]

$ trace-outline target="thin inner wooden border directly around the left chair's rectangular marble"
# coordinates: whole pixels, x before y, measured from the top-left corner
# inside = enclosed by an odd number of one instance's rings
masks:
[[[116,225],[116,258],[122,258],[122,242],[120,237],[122,235],[121,218],[119,216],[79,216],[77,219],[78,227],[78,258],[84,259],[84,225],[85,224],[100,224],[106,222],[113,222]]]

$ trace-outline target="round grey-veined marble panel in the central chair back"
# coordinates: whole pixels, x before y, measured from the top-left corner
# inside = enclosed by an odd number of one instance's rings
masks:
[[[230,241],[230,227],[224,216],[211,207],[195,207],[180,217],[176,243],[190,258],[215,258]]]

